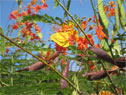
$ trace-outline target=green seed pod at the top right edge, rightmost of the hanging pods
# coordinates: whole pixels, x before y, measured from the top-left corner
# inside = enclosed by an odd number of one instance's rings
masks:
[[[126,16],[125,16],[125,9],[123,4],[120,0],[117,0],[119,4],[119,12],[120,12],[120,23],[124,31],[126,32]]]

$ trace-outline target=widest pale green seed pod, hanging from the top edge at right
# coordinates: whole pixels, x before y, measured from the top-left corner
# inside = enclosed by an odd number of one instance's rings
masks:
[[[101,18],[101,22],[103,23],[103,28],[105,30],[107,30],[108,25],[109,25],[109,21],[108,21],[107,16],[106,16],[106,14],[104,12],[103,0],[98,0],[97,4],[98,4],[99,16]],[[106,34],[108,34],[108,33],[106,33]]]

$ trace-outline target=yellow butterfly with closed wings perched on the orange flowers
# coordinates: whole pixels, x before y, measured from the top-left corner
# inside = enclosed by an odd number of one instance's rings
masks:
[[[58,32],[51,35],[50,39],[62,47],[69,46],[69,32]]]

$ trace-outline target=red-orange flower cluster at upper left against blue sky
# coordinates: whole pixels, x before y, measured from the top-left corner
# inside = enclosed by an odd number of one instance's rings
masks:
[[[42,5],[37,5],[37,3],[40,3]],[[22,2],[23,3],[23,2]],[[36,31],[36,33],[40,33],[40,27],[33,21],[25,21],[21,22],[23,16],[28,15],[35,15],[37,14],[41,9],[45,10],[47,9],[48,5],[46,4],[46,0],[32,0],[30,3],[27,4],[27,6],[23,6],[23,10],[15,10],[11,12],[9,19],[10,20],[16,20],[15,24],[12,24],[13,30],[20,30],[22,33],[22,37],[28,37],[30,36],[30,40],[39,40],[39,36],[37,36],[33,32],[33,28]]]

